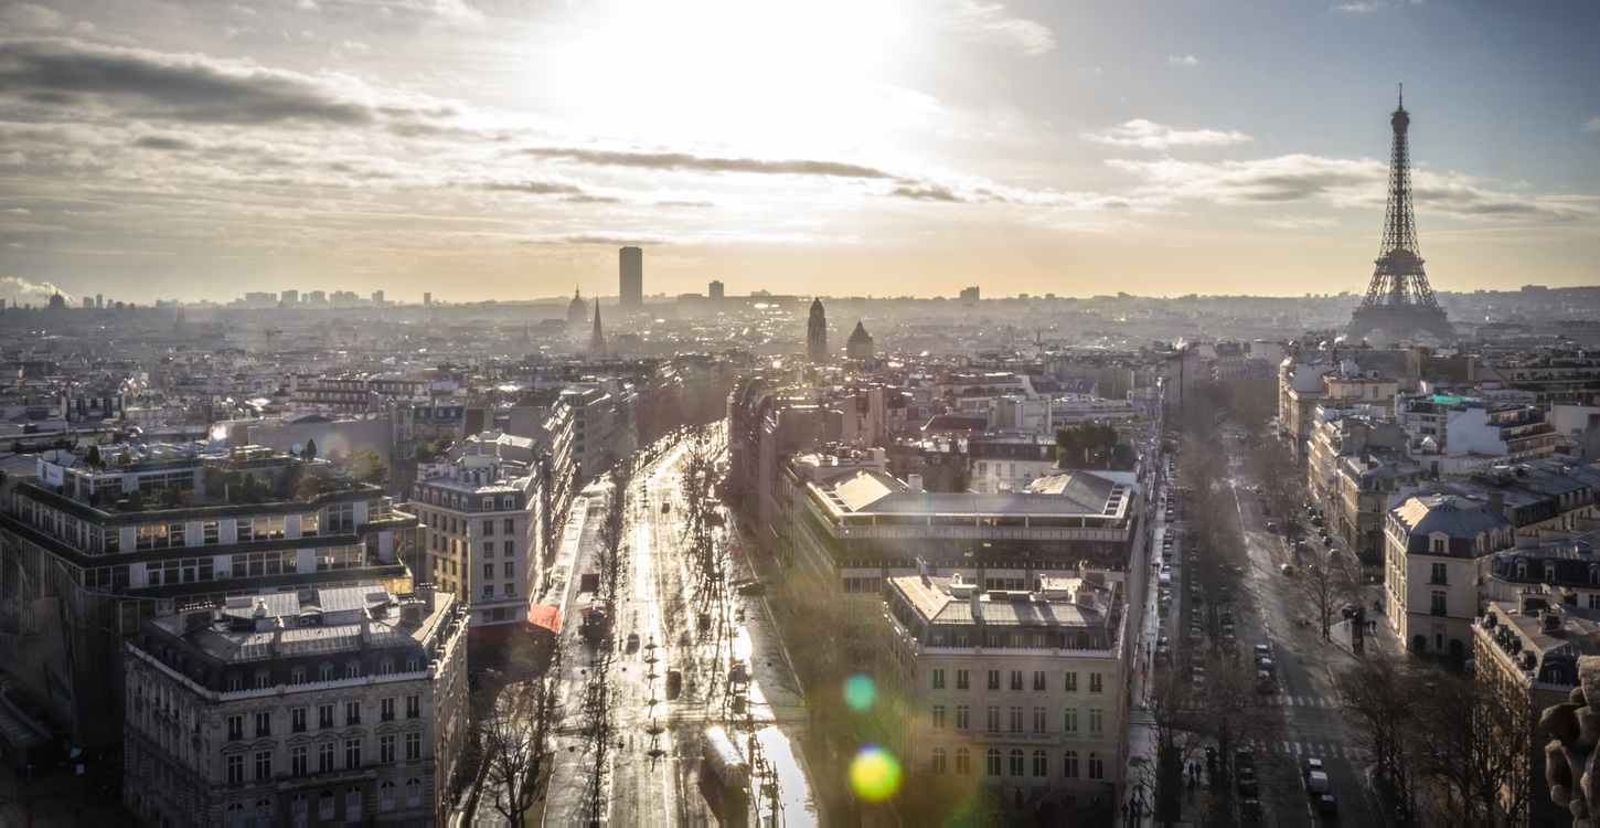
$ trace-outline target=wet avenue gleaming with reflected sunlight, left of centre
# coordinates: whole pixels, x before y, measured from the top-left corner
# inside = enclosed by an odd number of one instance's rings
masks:
[[[701,455],[715,460],[720,452],[717,445]],[[563,607],[573,623],[560,639],[563,726],[546,823],[712,825],[720,818],[771,825],[774,812],[776,825],[818,822],[794,746],[806,721],[798,682],[765,597],[733,589],[752,580],[744,551],[722,527],[707,527],[699,537],[715,545],[715,570],[688,554],[694,509],[682,477],[693,453],[690,439],[666,447],[621,493],[627,498],[626,565],[611,642],[595,645],[576,631],[582,610],[594,605],[590,593],[570,593]],[[586,493],[590,511],[574,581],[600,569],[598,527],[608,498],[619,495],[603,480]],[[597,674],[605,676],[603,692],[594,689]],[[600,730],[606,745],[592,737],[594,705],[586,709],[597,692],[605,700]],[[712,726],[722,726],[750,762],[747,804],[702,786],[701,745]]]

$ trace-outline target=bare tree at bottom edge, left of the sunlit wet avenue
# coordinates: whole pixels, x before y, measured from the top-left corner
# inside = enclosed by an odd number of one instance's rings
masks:
[[[475,727],[490,801],[517,826],[549,790],[558,687],[560,660],[541,676],[478,690]]]

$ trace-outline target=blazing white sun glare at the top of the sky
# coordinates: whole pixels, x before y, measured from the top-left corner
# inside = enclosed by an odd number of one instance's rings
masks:
[[[904,0],[605,5],[558,46],[562,106],[587,130],[781,157],[893,128]]]

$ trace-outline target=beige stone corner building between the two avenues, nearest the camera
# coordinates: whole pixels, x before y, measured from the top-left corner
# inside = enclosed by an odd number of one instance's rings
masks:
[[[883,623],[907,705],[898,754],[938,783],[998,788],[1006,802],[1117,801],[1126,716],[1122,583],[1080,569],[1021,589],[971,573],[891,577]]]

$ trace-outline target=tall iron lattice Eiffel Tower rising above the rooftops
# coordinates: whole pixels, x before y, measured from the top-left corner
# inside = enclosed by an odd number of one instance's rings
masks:
[[[1434,299],[1422,271],[1422,255],[1416,248],[1416,221],[1411,215],[1411,151],[1406,128],[1411,114],[1405,111],[1405,88],[1400,106],[1389,115],[1394,127],[1394,149],[1389,159],[1389,210],[1384,218],[1382,253],[1366,287],[1366,299],[1350,317],[1346,341],[1360,341],[1382,332],[1389,343],[1430,333],[1438,341],[1454,340],[1456,330],[1445,319],[1445,309]]]

